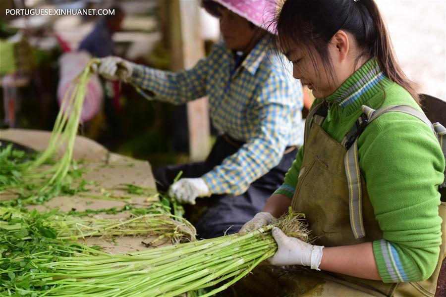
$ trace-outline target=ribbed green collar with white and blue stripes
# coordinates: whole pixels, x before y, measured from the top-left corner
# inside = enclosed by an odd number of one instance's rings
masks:
[[[391,84],[381,71],[376,58],[368,60],[356,70],[335,93],[326,98],[327,102],[338,105],[343,115],[355,112],[362,104]]]

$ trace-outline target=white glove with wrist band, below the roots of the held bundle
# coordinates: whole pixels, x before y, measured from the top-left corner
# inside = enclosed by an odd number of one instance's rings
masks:
[[[267,261],[274,266],[304,265],[311,269],[319,269],[324,246],[313,246],[300,239],[286,236],[282,230],[273,228],[273,237],[277,242],[276,254]]]

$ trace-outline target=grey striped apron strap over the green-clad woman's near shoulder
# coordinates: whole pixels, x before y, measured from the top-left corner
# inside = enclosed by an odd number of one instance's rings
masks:
[[[446,158],[446,128],[440,123],[432,124],[426,115],[409,105],[390,105],[378,110],[372,109],[366,105],[362,105],[362,112],[355,125],[344,137],[342,144],[347,148],[344,156],[345,174],[347,176],[347,186],[349,194],[349,212],[350,225],[353,235],[356,239],[365,236],[364,223],[362,217],[362,189],[361,175],[358,159],[358,138],[364,131],[365,127],[373,120],[387,112],[403,112],[413,115],[431,127],[433,132],[439,138],[443,155]],[[445,181],[440,188],[446,187],[446,171]]]

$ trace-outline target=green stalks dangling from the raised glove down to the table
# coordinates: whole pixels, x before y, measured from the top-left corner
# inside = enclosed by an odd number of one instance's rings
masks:
[[[66,186],[64,179],[72,164],[74,140],[91,75],[90,65],[94,62],[96,60],[91,60],[71,83],[60,106],[48,147],[42,153],[32,160],[21,162],[20,158],[11,154],[10,149],[2,150],[0,195],[17,196],[18,199],[13,201],[15,204],[35,203],[54,197]],[[55,161],[57,152],[62,149],[63,154]],[[14,204],[11,201],[8,203]]]

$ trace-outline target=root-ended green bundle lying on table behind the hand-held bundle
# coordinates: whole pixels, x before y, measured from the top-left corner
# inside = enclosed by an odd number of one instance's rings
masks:
[[[31,238],[32,232],[41,232],[49,238],[77,240],[91,236],[150,235],[158,237],[151,244],[171,240],[173,243],[195,240],[195,228],[187,220],[170,213],[146,213],[126,218],[94,218],[68,215],[57,209],[50,212],[19,211],[0,207],[0,232],[11,236],[22,234],[22,240]],[[23,232],[29,234],[23,236]],[[150,243],[149,243],[150,244]]]

